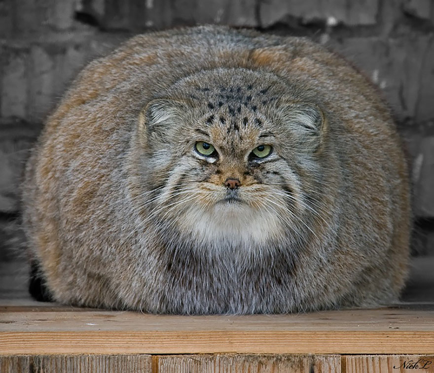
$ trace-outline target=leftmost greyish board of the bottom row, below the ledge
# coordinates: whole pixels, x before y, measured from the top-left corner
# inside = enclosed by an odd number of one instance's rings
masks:
[[[0,356],[1,373],[152,373],[149,355]]]

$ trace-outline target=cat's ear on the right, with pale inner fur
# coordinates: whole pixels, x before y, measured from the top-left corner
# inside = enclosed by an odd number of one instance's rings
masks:
[[[278,113],[296,144],[310,152],[321,149],[327,121],[318,105],[284,100],[278,106]]]

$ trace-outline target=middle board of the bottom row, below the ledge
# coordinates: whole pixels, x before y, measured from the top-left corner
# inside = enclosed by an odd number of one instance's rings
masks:
[[[156,356],[158,373],[335,373],[339,355],[167,355]]]

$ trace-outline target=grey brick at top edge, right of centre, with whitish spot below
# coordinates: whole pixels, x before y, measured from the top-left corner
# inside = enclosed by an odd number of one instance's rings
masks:
[[[303,22],[324,20],[347,25],[376,23],[379,0],[267,0],[260,2],[262,27],[283,21],[287,16],[301,18]]]

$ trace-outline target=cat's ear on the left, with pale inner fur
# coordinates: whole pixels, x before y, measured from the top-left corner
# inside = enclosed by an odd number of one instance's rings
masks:
[[[142,138],[170,142],[187,112],[187,103],[170,98],[156,98],[147,103],[139,116]]]

